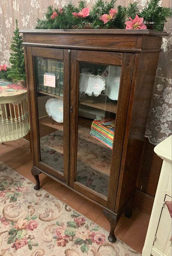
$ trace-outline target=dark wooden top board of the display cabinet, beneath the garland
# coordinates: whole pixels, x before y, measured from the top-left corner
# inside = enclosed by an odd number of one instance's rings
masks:
[[[29,29],[20,30],[20,33],[31,34],[107,34],[107,35],[152,35],[152,36],[168,36],[167,32],[155,31],[155,30],[125,30],[125,29],[72,29],[72,30],[46,30],[46,29]]]

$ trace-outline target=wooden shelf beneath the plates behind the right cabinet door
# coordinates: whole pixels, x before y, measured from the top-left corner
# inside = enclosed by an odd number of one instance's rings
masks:
[[[98,108],[102,110],[106,110],[111,113],[116,113],[117,111],[117,104],[114,102],[94,102],[92,103],[91,100],[80,100],[79,103],[81,105],[91,106],[92,108]]]

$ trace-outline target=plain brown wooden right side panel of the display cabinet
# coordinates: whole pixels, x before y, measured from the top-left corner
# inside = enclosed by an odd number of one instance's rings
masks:
[[[115,212],[135,191],[159,53],[136,54]]]

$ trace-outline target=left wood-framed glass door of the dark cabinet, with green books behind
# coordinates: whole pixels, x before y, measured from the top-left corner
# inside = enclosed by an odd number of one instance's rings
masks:
[[[34,89],[35,106],[33,104],[31,114],[35,115],[37,120],[33,133],[36,133],[38,147],[35,165],[50,175],[67,182],[69,132],[66,133],[65,128],[64,137],[64,127],[69,127],[69,101],[67,102],[68,97],[65,97],[69,90],[66,71],[69,53],[67,51],[68,55],[63,58],[63,50],[32,48],[34,75],[30,92],[32,94]],[[65,71],[64,65],[66,66]],[[64,75],[66,76],[65,80]],[[35,148],[36,145],[34,145]]]

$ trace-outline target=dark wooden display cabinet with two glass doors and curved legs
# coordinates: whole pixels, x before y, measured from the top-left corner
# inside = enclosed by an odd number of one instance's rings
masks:
[[[111,224],[108,239],[115,242],[122,210],[127,217],[132,214],[161,36],[167,33],[20,32],[29,94],[32,174],[37,182],[34,189],[40,189],[38,175],[42,172],[103,207]],[[45,73],[54,74],[55,88],[45,86]],[[47,114],[47,102],[54,104],[52,118]],[[95,133],[99,140],[91,136],[94,119],[115,120],[114,136],[100,129]]]

